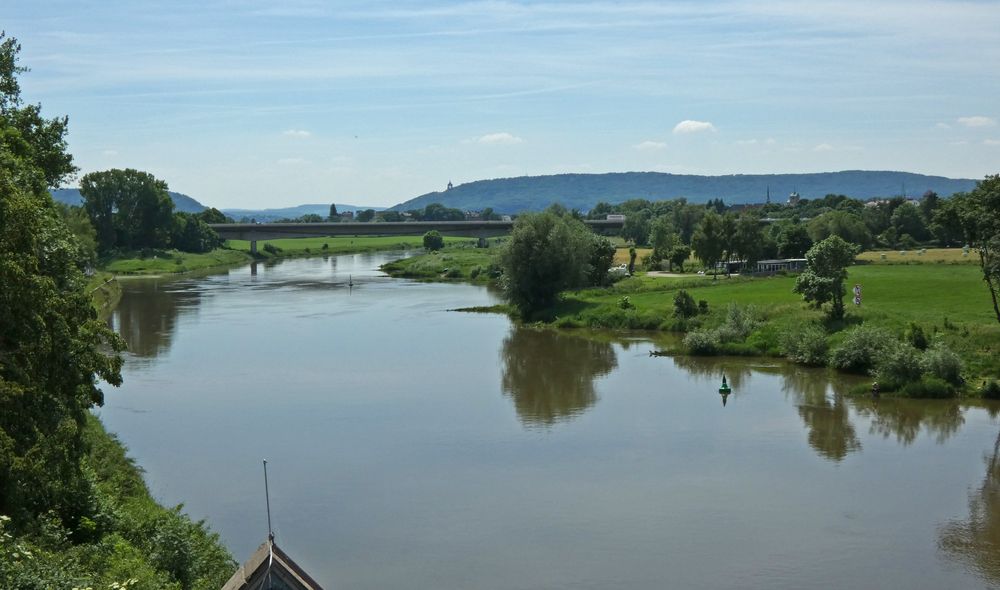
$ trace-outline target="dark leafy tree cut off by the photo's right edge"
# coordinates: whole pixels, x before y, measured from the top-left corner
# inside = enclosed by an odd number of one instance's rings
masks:
[[[1000,322],[1000,174],[987,176],[976,183],[967,195],[954,196],[959,218],[969,245],[979,252],[983,281],[993,299],[993,311]]]

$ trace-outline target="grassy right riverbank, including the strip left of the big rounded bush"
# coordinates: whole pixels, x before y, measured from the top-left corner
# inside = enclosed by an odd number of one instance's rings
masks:
[[[392,276],[424,280],[482,282],[481,269],[495,268],[495,255],[494,250],[449,248],[387,265],[384,270]],[[640,273],[610,287],[566,292],[538,317],[562,329],[704,336],[700,341],[698,336],[672,339],[664,347],[667,354],[780,357],[814,366],[839,366],[832,362],[831,353],[853,338],[854,329],[865,326],[876,336],[884,336],[883,340],[902,343],[901,354],[912,365],[911,375],[921,372],[918,364],[933,364],[921,360],[929,355],[925,349],[957,354],[963,365],[961,379],[953,378],[946,387],[935,382],[934,395],[993,395],[990,384],[1000,377],[1000,355],[996,354],[1000,325],[977,260],[975,253],[961,249],[863,253],[859,263],[848,269],[847,281],[849,289],[861,286],[861,305],[848,303],[848,313],[839,322],[828,321],[822,311],[807,306],[792,291],[794,275],[713,279],[695,273]],[[472,269],[479,269],[478,274]],[[682,291],[690,298],[686,312],[678,312],[675,303]],[[495,306],[473,311],[505,313],[509,309]],[[734,313],[747,324],[735,335]],[[798,343],[795,339],[806,332],[815,354],[796,350],[804,344],[801,338]],[[853,370],[866,373],[871,366],[861,363]],[[888,388],[898,387],[902,392],[903,385],[888,383]],[[913,386],[910,394],[928,395],[930,390]]]

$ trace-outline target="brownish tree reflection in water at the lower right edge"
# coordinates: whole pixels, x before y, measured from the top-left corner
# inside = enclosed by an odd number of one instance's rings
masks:
[[[969,518],[942,527],[940,547],[979,575],[1000,583],[1000,434],[984,457],[986,476],[969,494]]]

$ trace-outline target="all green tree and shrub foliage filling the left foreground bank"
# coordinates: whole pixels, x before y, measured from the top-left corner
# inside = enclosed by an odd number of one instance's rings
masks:
[[[90,413],[98,379],[121,382],[123,343],[47,190],[72,172],[65,119],[24,116],[17,52],[0,34],[0,588],[219,588],[233,564],[218,538],[157,505]]]

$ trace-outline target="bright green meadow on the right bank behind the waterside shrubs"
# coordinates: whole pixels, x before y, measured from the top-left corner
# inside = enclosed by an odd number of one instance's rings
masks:
[[[549,320],[563,327],[612,329],[687,329],[673,319],[673,298],[686,290],[695,301],[704,300],[710,313],[696,326],[722,321],[730,303],[754,305],[764,326],[754,334],[754,345],[765,354],[779,354],[781,335],[808,322],[820,323],[823,313],[806,306],[792,292],[795,278],[685,278],[634,277],[610,289],[567,293]],[[843,339],[844,327],[864,323],[899,336],[911,323],[932,338],[940,338],[964,360],[970,383],[1000,377],[1000,324],[993,314],[989,291],[977,266],[967,264],[867,264],[849,269],[848,288],[862,287],[862,304],[848,303],[847,318],[831,326],[830,343]],[[850,294],[850,293],[849,293]],[[623,308],[623,297],[628,297]],[[748,339],[749,341],[749,339]]]

